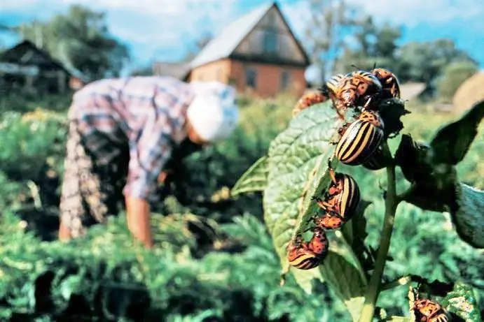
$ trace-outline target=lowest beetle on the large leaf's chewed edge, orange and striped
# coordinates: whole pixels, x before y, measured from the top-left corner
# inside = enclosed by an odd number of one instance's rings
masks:
[[[298,235],[288,246],[289,265],[300,270],[316,268],[328,254],[329,241],[324,229],[315,227],[309,242]]]

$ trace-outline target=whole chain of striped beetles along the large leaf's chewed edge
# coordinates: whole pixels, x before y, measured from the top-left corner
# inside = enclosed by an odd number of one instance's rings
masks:
[[[352,108],[355,119],[345,123],[338,130],[339,140],[335,142],[334,156],[348,166],[362,165],[369,170],[387,166],[382,152],[382,143],[395,129],[385,129],[380,115],[382,101],[400,98],[399,80],[385,68],[371,71],[354,71],[346,75],[333,75],[317,92],[300,98],[293,116],[311,105],[331,100],[340,119],[346,121],[345,112]],[[324,260],[329,249],[325,230],[341,228],[357,210],[360,191],[357,182],[350,175],[336,173],[329,165],[331,185],[323,196],[313,200],[322,210],[310,219],[316,227],[312,238],[305,242],[301,234],[291,240],[288,246],[289,264],[308,270],[317,267]]]

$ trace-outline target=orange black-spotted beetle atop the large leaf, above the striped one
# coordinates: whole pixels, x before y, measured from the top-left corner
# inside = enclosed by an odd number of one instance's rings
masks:
[[[349,73],[339,82],[338,93],[341,104],[345,107],[365,106],[374,97],[382,94],[380,80],[368,71],[355,71]]]

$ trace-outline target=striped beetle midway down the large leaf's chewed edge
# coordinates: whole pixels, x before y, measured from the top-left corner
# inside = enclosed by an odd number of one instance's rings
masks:
[[[350,175],[335,173],[329,163],[329,175],[331,185],[326,191],[324,199],[319,196],[312,197],[317,200],[317,205],[324,210],[323,214],[317,214],[310,220],[318,227],[337,229],[349,221],[357,210],[361,193],[357,182]]]

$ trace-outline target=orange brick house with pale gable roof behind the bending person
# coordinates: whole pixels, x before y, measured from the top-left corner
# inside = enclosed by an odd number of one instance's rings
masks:
[[[261,97],[280,92],[300,96],[309,65],[279,6],[271,2],[229,24],[188,64],[157,63],[153,73],[187,81],[219,80]]]

